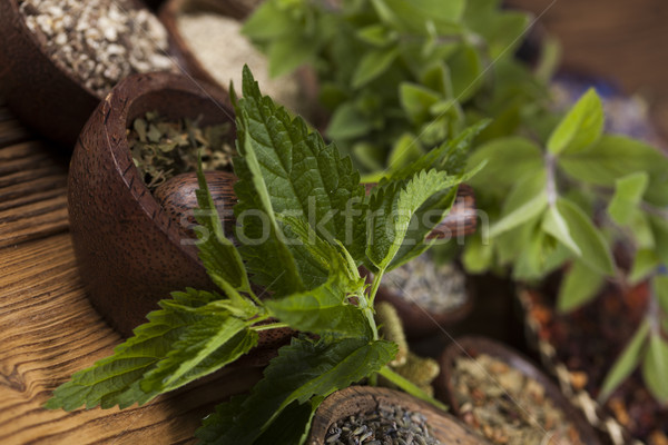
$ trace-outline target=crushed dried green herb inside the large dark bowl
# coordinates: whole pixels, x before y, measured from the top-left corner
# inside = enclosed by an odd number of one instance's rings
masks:
[[[232,126],[200,126],[198,120],[168,120],[157,112],[135,119],[127,130],[135,166],[149,189],[176,175],[196,171],[198,156],[205,170],[229,170],[235,150]]]

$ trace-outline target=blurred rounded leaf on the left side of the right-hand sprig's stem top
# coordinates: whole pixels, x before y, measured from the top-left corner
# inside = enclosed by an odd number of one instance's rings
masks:
[[[543,168],[540,147],[522,137],[494,139],[478,147],[469,157],[469,165],[478,165],[484,159],[488,160],[487,167],[470,185],[500,198],[522,177]]]

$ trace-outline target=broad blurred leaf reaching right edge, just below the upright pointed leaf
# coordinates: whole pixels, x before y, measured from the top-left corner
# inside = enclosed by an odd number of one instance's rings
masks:
[[[606,187],[630,174],[646,172],[649,186],[645,199],[668,206],[668,158],[641,141],[606,135],[584,150],[562,154],[558,162],[573,179]]]

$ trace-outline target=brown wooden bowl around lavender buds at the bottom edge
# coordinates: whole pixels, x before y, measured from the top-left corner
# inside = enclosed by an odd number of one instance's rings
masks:
[[[462,422],[405,393],[373,386],[351,386],[328,396],[315,412],[308,445],[325,445],[327,431],[334,422],[354,414],[364,414],[380,404],[400,406],[426,417],[432,435],[443,444],[489,444]]]

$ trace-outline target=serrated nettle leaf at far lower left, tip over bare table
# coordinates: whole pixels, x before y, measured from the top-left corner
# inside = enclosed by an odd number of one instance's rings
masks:
[[[118,405],[125,408],[135,403],[147,403],[159,393],[141,390],[139,383],[144,375],[167,357],[190,326],[206,317],[225,318],[220,313],[207,315],[198,310],[215,297],[216,294],[187,289],[186,293],[174,293],[174,300],[158,303],[161,309],[148,314],[148,323],[137,327],[132,337],[116,346],[112,356],[75,373],[71,380],[53,392],[46,407],[72,411],[84,405],[87,408]]]

